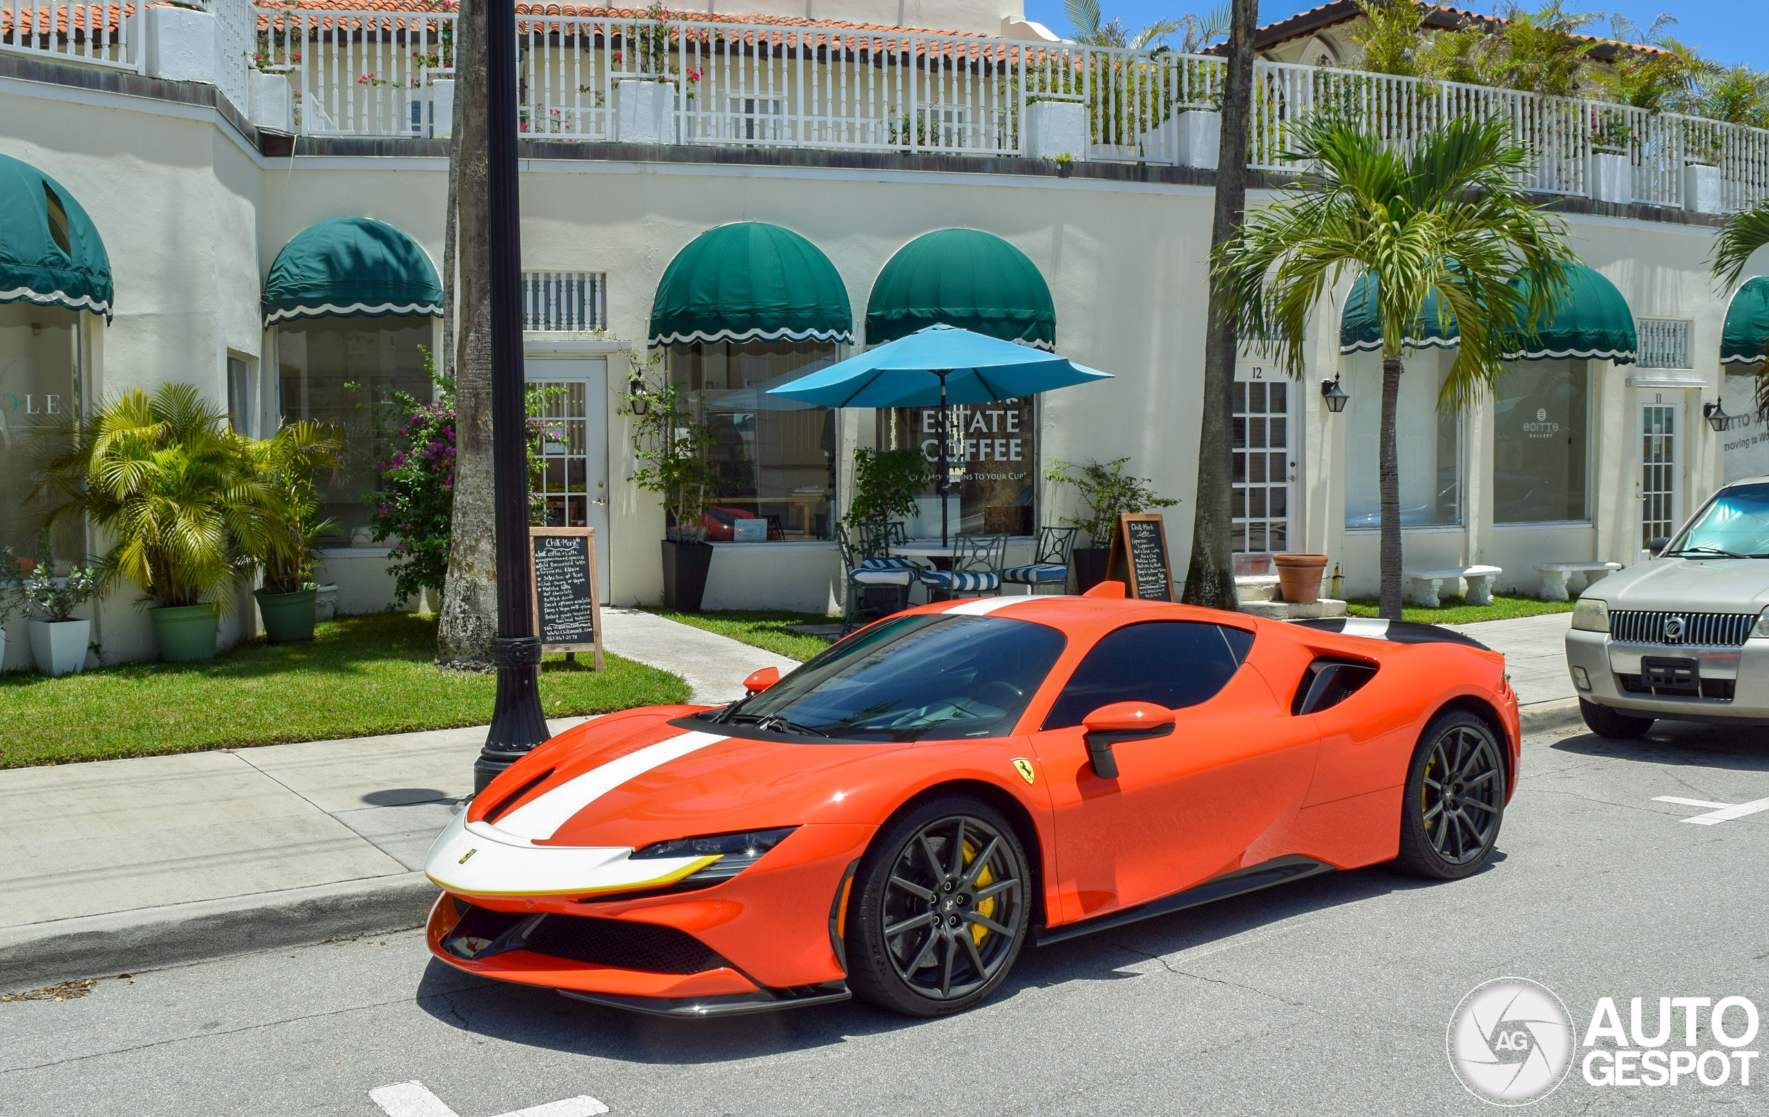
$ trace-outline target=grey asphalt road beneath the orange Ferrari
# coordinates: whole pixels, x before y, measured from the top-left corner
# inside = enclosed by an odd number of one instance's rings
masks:
[[[409,1080],[458,1117],[577,1096],[617,1115],[1486,1113],[1445,1030],[1488,979],[1551,988],[1574,1043],[1601,997],[1624,1027],[1645,997],[1649,1032],[1659,997],[1742,995],[1769,1016],[1769,809],[1691,825],[1712,807],[1654,797],[1769,807],[1769,731],[1532,738],[1500,857],[1467,882],[1329,874],[1028,951],[961,1018],[639,1018],[456,975],[405,933],[0,1004],[0,1113],[377,1117],[370,1090]],[[1530,1112],[1769,1105],[1769,1066],[1751,1087],[1596,1087],[1583,1053]]]

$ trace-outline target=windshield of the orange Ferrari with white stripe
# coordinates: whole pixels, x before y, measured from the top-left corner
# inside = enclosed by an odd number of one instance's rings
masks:
[[[706,717],[847,740],[998,736],[1014,729],[1065,643],[1056,628],[1030,621],[900,616]]]

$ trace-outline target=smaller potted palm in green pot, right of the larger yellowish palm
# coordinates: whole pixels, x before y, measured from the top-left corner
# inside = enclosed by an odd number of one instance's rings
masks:
[[[269,481],[269,508],[274,513],[264,559],[264,586],[253,589],[264,634],[272,644],[313,639],[318,614],[318,538],[336,520],[318,519],[320,494],[315,471],[336,466],[343,443],[313,421],[280,427],[271,437],[253,443],[258,473]]]

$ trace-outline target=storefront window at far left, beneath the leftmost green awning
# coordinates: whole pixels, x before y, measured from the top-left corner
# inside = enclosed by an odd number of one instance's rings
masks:
[[[0,306],[0,547],[37,552],[48,505],[30,503],[34,471],[50,450],[44,437],[80,416],[80,312],[9,303]],[[80,526],[55,540],[57,554],[78,558]]]

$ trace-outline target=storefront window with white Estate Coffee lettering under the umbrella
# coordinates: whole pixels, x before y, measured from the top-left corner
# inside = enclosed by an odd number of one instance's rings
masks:
[[[1033,402],[1003,400],[950,411],[950,531],[1031,535],[1038,522],[1033,506],[1038,476]],[[883,450],[913,446],[929,462],[939,460],[939,407],[879,411],[877,421]],[[932,485],[916,496],[916,517],[907,531],[915,538],[939,536],[939,494]]]

